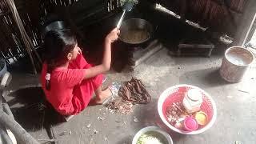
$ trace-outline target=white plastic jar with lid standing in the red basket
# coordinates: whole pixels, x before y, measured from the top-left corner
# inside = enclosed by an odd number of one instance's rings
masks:
[[[186,111],[192,114],[200,110],[201,105],[202,93],[197,89],[188,90],[183,99],[183,106],[185,107]]]

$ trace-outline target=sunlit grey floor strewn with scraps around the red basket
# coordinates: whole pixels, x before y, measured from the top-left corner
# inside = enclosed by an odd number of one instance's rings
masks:
[[[211,58],[173,58],[168,55],[168,50],[162,49],[136,67],[134,72],[110,72],[107,74],[109,82],[129,81],[132,76],[142,79],[152,96],[152,102],[148,105],[134,106],[134,111],[129,115],[111,114],[105,111],[104,106],[87,107],[70,122],[54,125],[58,143],[128,144],[131,143],[134,134],[145,126],[162,127],[173,138],[174,144],[231,144],[236,141],[243,144],[255,143],[256,73],[251,71],[254,76],[247,74],[243,82],[230,84],[222,80],[218,74],[221,60],[222,54],[214,54]],[[14,78],[6,90],[7,95],[10,90],[40,86],[38,76],[13,75]],[[203,134],[187,136],[176,134],[163,126],[157,111],[158,97],[163,90],[177,84],[198,86],[214,98],[218,117],[210,130]],[[34,95],[31,94],[30,97]],[[6,98],[10,101],[14,97],[6,96]],[[97,117],[105,119],[100,120]],[[138,118],[138,122],[134,122],[134,117]],[[25,123],[29,124],[30,120]],[[94,130],[98,133],[94,134]],[[48,138],[40,122],[38,126],[33,126],[28,131],[36,139]],[[66,133],[63,134],[63,131]]]

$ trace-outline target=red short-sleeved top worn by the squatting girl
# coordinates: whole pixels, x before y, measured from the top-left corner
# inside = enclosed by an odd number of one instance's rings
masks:
[[[55,69],[50,74],[50,90],[46,90],[46,63],[42,66],[42,89],[46,99],[60,114],[78,114],[81,111],[80,99],[76,97],[74,86],[82,82],[83,69]]]

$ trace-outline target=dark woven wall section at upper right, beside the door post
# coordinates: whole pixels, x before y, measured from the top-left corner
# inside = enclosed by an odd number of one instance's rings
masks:
[[[238,28],[248,0],[155,0],[184,19],[198,22],[212,30],[223,31],[231,36]]]

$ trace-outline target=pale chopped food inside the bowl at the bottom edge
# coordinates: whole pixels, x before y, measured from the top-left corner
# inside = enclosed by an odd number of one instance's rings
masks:
[[[162,134],[155,131],[149,131],[142,134],[136,144],[167,144],[166,139]]]

